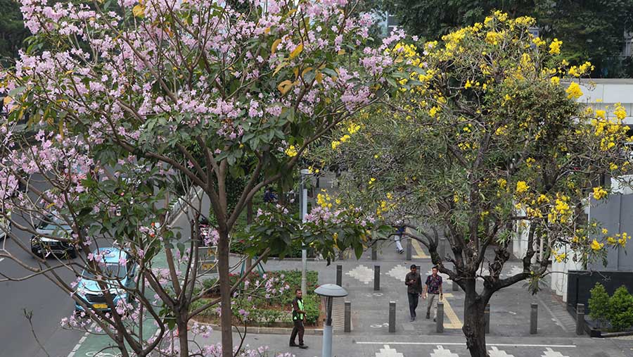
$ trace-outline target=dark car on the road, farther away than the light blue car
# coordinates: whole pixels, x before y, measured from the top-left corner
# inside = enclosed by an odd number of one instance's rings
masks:
[[[49,213],[35,227],[33,237],[31,237],[31,251],[40,258],[45,258],[49,254],[60,254],[61,256],[77,257],[77,249],[69,242],[60,239],[68,239],[72,235],[72,228],[68,223],[60,220]],[[52,237],[52,238],[51,238]],[[56,238],[58,237],[58,238]]]

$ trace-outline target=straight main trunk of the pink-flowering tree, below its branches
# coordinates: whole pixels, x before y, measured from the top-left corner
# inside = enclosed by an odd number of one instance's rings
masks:
[[[222,357],[233,357],[233,324],[231,313],[231,283],[229,282],[229,236],[227,232],[218,232],[217,273],[220,286],[222,331]]]

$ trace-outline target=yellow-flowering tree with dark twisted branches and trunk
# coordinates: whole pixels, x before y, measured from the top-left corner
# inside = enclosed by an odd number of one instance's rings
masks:
[[[550,259],[586,262],[628,239],[608,237],[582,209],[590,195],[608,197],[607,187],[592,187],[601,175],[627,172],[624,108],[599,113],[578,104],[578,78],[592,65],[559,61],[563,44],[532,37],[534,23],[495,12],[441,42],[399,46],[398,95],[335,150],[314,150],[345,168],[341,187],[378,218],[410,217],[420,234],[409,237],[465,292],[472,356],[487,356],[484,308],[495,292],[523,280],[536,292]],[[523,270],[501,277],[521,226]],[[437,249],[442,231],[446,256]],[[564,246],[575,253],[559,253]]]

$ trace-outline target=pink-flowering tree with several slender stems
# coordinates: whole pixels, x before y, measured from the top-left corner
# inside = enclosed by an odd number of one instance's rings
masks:
[[[30,271],[20,280],[46,275],[68,292],[84,310],[81,317],[94,320],[122,356],[164,348],[170,330],[177,332],[170,351],[190,356],[199,351],[190,349],[187,326],[200,312],[191,303],[202,296],[195,237],[203,213],[196,195],[207,196],[217,222],[208,240],[217,245],[220,297],[203,307],[221,311],[222,348],[213,353],[233,356],[231,298],[240,282],[229,284],[229,234],[236,220],[262,187],[292,177],[310,143],[393,87],[385,50],[401,36],[369,48],[371,16],[354,16],[356,6],[271,0],[237,11],[204,0],[24,0],[33,36],[15,67],[0,71],[10,112],[0,123],[1,214],[12,224],[2,229],[74,250],[53,255],[49,243],[34,251],[35,261],[19,261],[11,251],[0,256]],[[20,129],[24,121],[34,136]],[[230,180],[245,185],[229,206]],[[182,192],[194,239],[166,218],[165,202]],[[353,223],[345,244],[354,246],[366,223],[353,210],[345,214],[332,220],[342,213],[327,213],[309,225],[326,237]],[[56,225],[53,233],[37,230],[44,219]],[[282,238],[257,240],[260,259]],[[320,242],[319,251],[331,256],[331,239]],[[94,253],[113,244],[127,253],[120,263],[138,265],[134,286],[123,286]],[[30,251],[24,242],[18,246]],[[68,259],[75,253],[79,258]],[[110,312],[92,309],[75,294],[78,280],[64,279],[60,270],[93,277]],[[122,290],[132,298],[117,303],[111,291]],[[151,339],[143,337],[145,320],[158,328]]]

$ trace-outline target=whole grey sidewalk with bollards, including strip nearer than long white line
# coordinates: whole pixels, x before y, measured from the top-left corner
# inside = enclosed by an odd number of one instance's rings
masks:
[[[398,254],[393,244],[385,244],[378,251],[378,259],[371,260],[366,251],[358,261],[346,258],[326,265],[325,261],[309,261],[309,270],[319,272],[319,283],[335,283],[336,265],[343,265],[343,287],[349,295],[335,299],[333,308],[333,354],[339,357],[466,357],[463,321],[463,292],[452,291],[452,282],[445,279],[445,332],[435,332],[435,322],[424,318],[426,301],[420,300],[418,319],[409,322],[409,309],[404,275],[409,265],[421,265],[423,278],[430,274],[428,252],[414,244],[412,261]],[[236,262],[237,257],[233,258]],[[381,266],[381,289],[373,291],[373,267]],[[268,261],[265,270],[299,270],[301,261]],[[520,271],[520,261],[509,261],[504,275]],[[343,302],[352,302],[352,332],[343,332]],[[397,306],[396,332],[388,332],[388,306]],[[530,304],[538,303],[538,333],[530,334]],[[487,345],[490,357],[631,357],[633,339],[589,339],[575,334],[575,322],[549,289],[532,296],[517,283],[497,292],[490,301],[490,334]],[[452,311],[452,313],[451,313]],[[205,343],[219,342],[214,332]],[[239,341],[234,335],[234,342]],[[202,342],[202,341],[200,341]],[[248,334],[245,344],[255,348],[269,346],[270,356],[293,353],[297,357],[321,356],[322,337],[306,334],[307,350],[288,347],[288,334]]]

